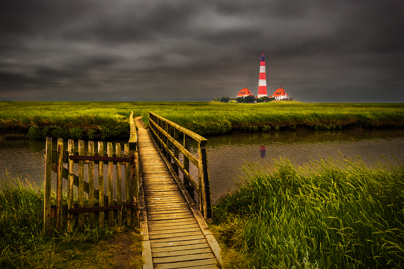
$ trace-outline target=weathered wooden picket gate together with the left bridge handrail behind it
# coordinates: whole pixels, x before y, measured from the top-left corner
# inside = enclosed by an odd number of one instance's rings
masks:
[[[94,142],[88,141],[88,151],[84,152],[84,141],[78,140],[78,151],[74,152],[74,140],[69,139],[67,150],[63,151],[63,139],[57,139],[57,150],[52,150],[52,138],[46,138],[45,152],[45,190],[44,190],[44,231],[50,234],[50,219],[56,218],[56,230],[61,231],[63,221],[67,221],[67,231],[72,232],[77,217],[79,229],[84,229],[84,215],[88,216],[90,229],[95,226],[95,216],[98,225],[115,224],[131,225],[139,220],[139,161],[137,154],[137,135],[130,115],[130,139],[124,144],[124,154],[121,153],[120,143],[115,150],[111,142],[98,142],[98,152],[94,150]],[[115,151],[115,153],[114,153]],[[67,169],[63,167],[67,163]],[[77,165],[77,175],[74,173],[74,163]],[[88,164],[88,165],[85,165]],[[95,164],[98,165],[98,189],[94,188]],[[104,194],[104,165],[107,165],[107,195]],[[84,180],[84,167],[88,169],[87,181]],[[122,179],[122,166],[124,179]],[[113,192],[113,170],[115,167],[116,199]],[[51,206],[52,171],[56,173],[56,204]],[[63,178],[67,179],[67,204],[63,204]],[[125,182],[124,200],[122,197],[122,180]],[[74,186],[77,186],[77,204],[74,204]],[[87,194],[88,203],[84,204]],[[115,214],[114,214],[115,211]],[[114,217],[115,216],[115,217]]]

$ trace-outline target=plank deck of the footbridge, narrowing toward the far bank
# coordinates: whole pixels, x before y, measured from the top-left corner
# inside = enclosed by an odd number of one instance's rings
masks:
[[[218,261],[211,248],[217,246],[216,254],[220,254],[215,238],[210,231],[202,231],[200,217],[196,214],[197,221],[193,213],[197,207],[189,205],[167,160],[156,148],[149,131],[138,121],[137,146],[149,239],[149,243],[143,245],[145,248],[150,245],[153,268],[217,269]],[[202,225],[206,225],[204,220]]]

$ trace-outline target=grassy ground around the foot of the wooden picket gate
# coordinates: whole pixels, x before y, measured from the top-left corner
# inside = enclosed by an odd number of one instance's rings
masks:
[[[123,227],[86,227],[72,234],[59,234],[51,228],[51,235],[42,238],[43,192],[29,182],[21,182],[7,173],[0,178],[0,268],[116,267],[112,256],[120,247],[108,246],[103,239],[119,235]],[[132,240],[137,242],[136,251],[141,252],[139,237],[133,230]],[[134,265],[139,265],[139,259],[141,256],[133,261]]]

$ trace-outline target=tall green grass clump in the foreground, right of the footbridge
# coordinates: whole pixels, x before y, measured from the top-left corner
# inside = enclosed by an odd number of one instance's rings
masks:
[[[227,268],[404,267],[404,165],[281,159],[243,171],[214,207]]]

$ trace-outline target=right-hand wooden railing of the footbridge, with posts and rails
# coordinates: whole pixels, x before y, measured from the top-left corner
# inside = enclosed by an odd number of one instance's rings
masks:
[[[198,208],[202,216],[204,216],[206,220],[212,219],[209,167],[208,157],[206,155],[206,143],[208,140],[151,111],[149,112],[149,125],[151,127],[151,133],[159,143],[168,161],[171,163],[171,158],[173,159],[172,165],[175,173],[178,175],[179,170],[183,173],[184,185],[187,187],[191,197],[194,198],[194,190],[198,193]],[[180,131],[184,135],[183,144],[177,141],[179,140]],[[174,133],[174,137],[171,135],[172,133]],[[189,139],[194,139],[198,142],[198,158],[195,158],[191,152],[189,152]],[[170,148],[173,148],[174,152],[172,152]],[[179,151],[184,155],[183,164],[179,162]],[[198,169],[198,184],[191,175],[189,175],[189,161]]]

